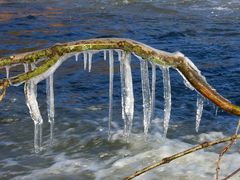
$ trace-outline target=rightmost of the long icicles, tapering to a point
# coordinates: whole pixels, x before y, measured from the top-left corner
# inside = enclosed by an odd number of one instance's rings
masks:
[[[168,124],[171,115],[171,82],[168,67],[161,67],[163,74],[163,87],[164,87],[164,118],[163,118],[163,128],[164,137],[167,135]]]

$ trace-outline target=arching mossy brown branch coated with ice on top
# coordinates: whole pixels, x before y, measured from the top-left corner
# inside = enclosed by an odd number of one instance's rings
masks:
[[[121,38],[103,38],[89,39],[70,43],[56,44],[53,47],[33,51],[29,53],[17,54],[14,56],[1,58],[0,67],[13,65],[18,63],[36,62],[40,58],[47,58],[44,63],[33,71],[11,77],[9,80],[12,84],[23,83],[24,81],[41,75],[47,71],[58,59],[71,52],[82,52],[87,50],[104,50],[104,49],[120,49],[132,52],[145,60],[154,62],[162,66],[169,66],[178,69],[190,84],[204,97],[212,101],[226,112],[240,116],[240,107],[230,103],[227,99],[218,94],[201,75],[197,67],[183,54],[168,53],[154,49],[143,43],[133,41],[131,39]],[[0,81],[0,86],[3,84]]]

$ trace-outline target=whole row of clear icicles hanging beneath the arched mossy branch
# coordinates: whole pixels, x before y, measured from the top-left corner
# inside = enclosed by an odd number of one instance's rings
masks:
[[[126,139],[130,136],[133,117],[134,117],[134,92],[133,81],[131,72],[131,53],[122,50],[102,50],[104,53],[104,60],[109,60],[109,123],[108,123],[108,137],[111,136],[111,121],[112,121],[112,104],[113,104],[113,79],[114,79],[114,52],[118,54],[118,61],[120,62],[120,76],[121,76],[121,102],[122,102],[122,119],[124,120],[124,136]],[[43,118],[41,116],[38,102],[37,102],[37,84],[46,80],[46,94],[47,94],[47,112],[48,122],[50,123],[50,143],[53,142],[53,127],[54,127],[54,87],[53,87],[53,75],[56,69],[68,58],[75,56],[75,60],[78,61],[79,55],[83,55],[84,70],[90,72],[92,67],[93,54],[100,51],[84,51],[81,53],[69,53],[61,57],[57,63],[50,67],[46,72],[40,76],[33,77],[25,82],[24,92],[26,96],[26,104],[29,108],[30,115],[34,121],[34,148],[36,152],[42,149],[42,124]],[[154,118],[155,108],[155,84],[156,84],[156,67],[159,67],[163,75],[163,89],[164,89],[164,115],[163,115],[163,137],[166,136],[168,130],[168,124],[171,114],[171,84],[169,67],[164,67],[151,63],[152,70],[152,82],[151,87],[149,83],[149,62],[142,59],[133,53],[140,60],[141,69],[141,82],[142,82],[142,98],[143,98],[143,126],[144,134],[148,134],[148,129],[151,124],[151,120]],[[41,60],[39,60],[41,61]],[[30,67],[29,67],[30,66]],[[24,64],[25,72],[29,69],[34,70],[37,67],[36,63]],[[6,68],[6,76],[9,78],[10,67]],[[180,73],[180,72],[179,72]],[[181,73],[180,73],[181,74]],[[182,74],[181,74],[182,75]],[[182,76],[184,84],[193,90],[191,84]],[[204,98],[198,95],[197,98],[197,112],[196,112],[196,131],[198,132],[202,111],[203,111]]]

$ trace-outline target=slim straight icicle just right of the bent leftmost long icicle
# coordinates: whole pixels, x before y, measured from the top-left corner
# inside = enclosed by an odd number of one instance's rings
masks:
[[[50,143],[53,144],[53,128],[54,128],[54,88],[53,88],[53,74],[46,79],[46,94],[47,94],[47,110],[48,122],[50,123]]]

